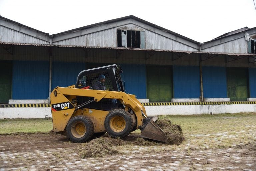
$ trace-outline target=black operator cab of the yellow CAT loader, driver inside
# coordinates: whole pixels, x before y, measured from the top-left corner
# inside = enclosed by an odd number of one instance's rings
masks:
[[[120,73],[122,73],[122,68],[117,64],[81,71],[77,77],[76,88],[124,92],[124,85]],[[104,81],[102,80],[103,78],[105,78]],[[79,104],[83,104],[89,100],[92,100],[92,98],[77,96]],[[120,106],[123,105],[119,100],[102,99],[99,102],[92,102],[86,105],[85,108],[111,111]]]

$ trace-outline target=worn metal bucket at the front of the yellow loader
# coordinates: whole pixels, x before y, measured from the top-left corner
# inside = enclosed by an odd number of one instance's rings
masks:
[[[143,126],[139,127],[141,130],[141,137],[148,138],[156,141],[167,143],[167,137],[163,130],[155,123],[157,116],[154,118],[144,118]]]

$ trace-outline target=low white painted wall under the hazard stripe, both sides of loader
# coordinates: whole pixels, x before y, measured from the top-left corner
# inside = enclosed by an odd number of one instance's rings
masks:
[[[148,116],[155,115],[193,115],[256,112],[256,104],[231,105],[173,105],[145,106]],[[51,117],[50,107],[7,107],[0,108],[0,119],[3,118],[45,118]]]

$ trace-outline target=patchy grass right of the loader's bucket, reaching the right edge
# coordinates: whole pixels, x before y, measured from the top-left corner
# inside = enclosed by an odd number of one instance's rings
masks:
[[[180,125],[193,148],[228,148],[256,137],[256,113],[159,116],[162,118]]]

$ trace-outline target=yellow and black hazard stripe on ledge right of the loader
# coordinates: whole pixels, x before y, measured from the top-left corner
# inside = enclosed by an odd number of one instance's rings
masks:
[[[142,103],[143,106],[175,106],[175,105],[223,105],[223,104],[256,104],[256,102],[151,102]]]

